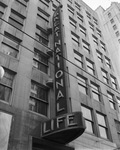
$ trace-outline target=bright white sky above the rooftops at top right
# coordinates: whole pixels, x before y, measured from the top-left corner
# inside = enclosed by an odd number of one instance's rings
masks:
[[[102,6],[104,9],[108,8],[111,2],[119,2],[120,0],[83,0],[88,6],[95,10],[98,6]]]

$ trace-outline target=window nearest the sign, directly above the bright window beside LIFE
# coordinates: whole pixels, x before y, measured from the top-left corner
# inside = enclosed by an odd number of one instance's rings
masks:
[[[88,88],[87,88],[87,79],[79,74],[77,74],[77,81],[78,81],[78,88],[79,91],[83,94],[88,94]]]

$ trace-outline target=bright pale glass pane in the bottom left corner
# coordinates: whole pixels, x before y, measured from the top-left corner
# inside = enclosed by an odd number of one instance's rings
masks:
[[[12,124],[12,115],[0,112],[0,149],[7,150]]]

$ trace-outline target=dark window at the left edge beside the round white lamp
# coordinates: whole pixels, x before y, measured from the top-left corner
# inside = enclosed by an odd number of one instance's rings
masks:
[[[0,81],[0,100],[9,103],[14,76],[12,71],[5,69],[5,74]]]

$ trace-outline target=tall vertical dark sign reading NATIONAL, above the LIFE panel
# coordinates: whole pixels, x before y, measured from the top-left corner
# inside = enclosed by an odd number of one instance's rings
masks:
[[[65,73],[63,60],[61,8],[60,5],[53,15],[54,28],[54,63],[55,63],[55,100],[56,116],[67,113],[67,99],[65,88]]]

